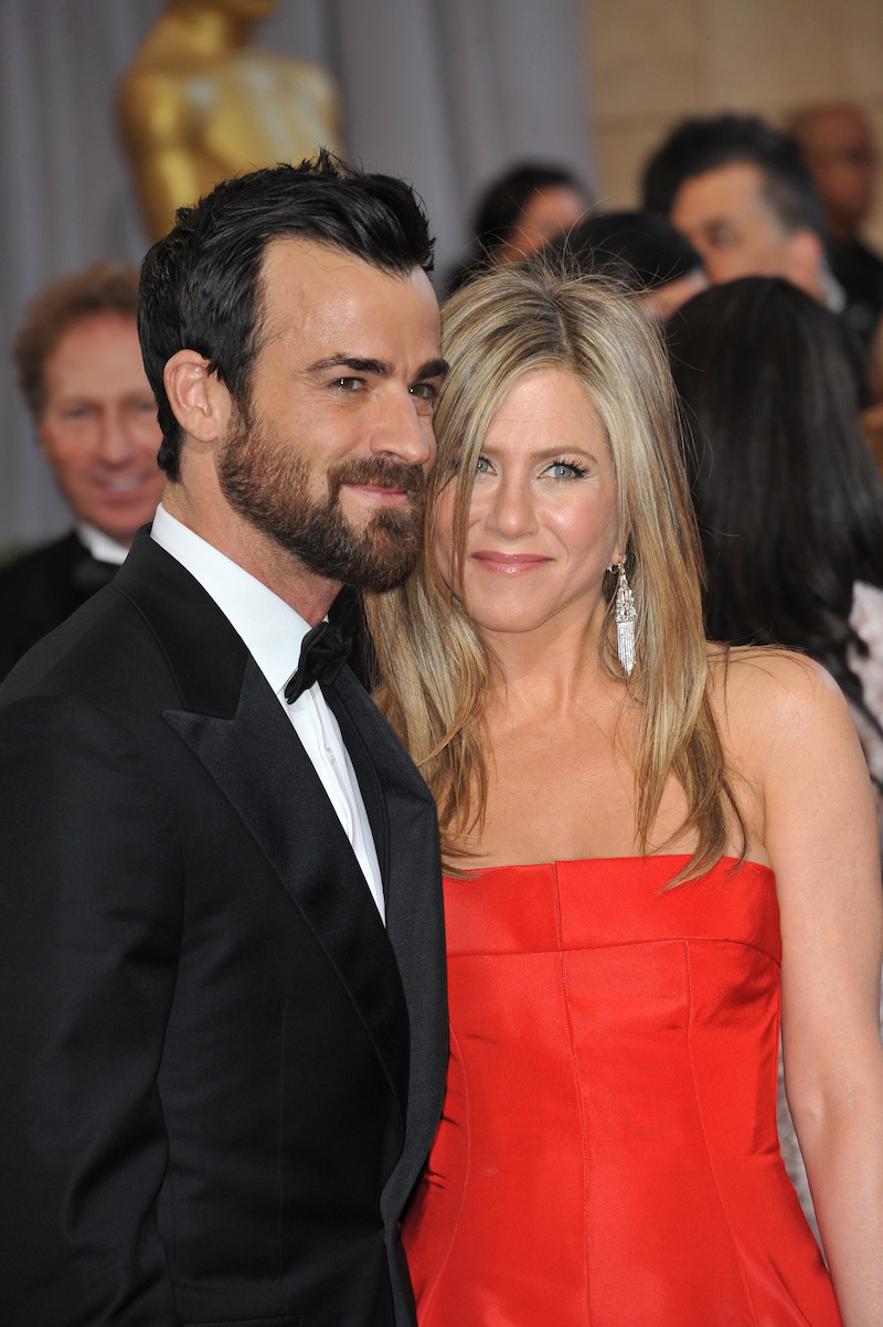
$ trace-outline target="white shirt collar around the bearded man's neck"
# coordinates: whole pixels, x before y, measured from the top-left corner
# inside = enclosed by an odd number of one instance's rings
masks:
[[[297,667],[309,622],[239,563],[171,516],[162,503],[151,536],[211,594],[278,694]]]

